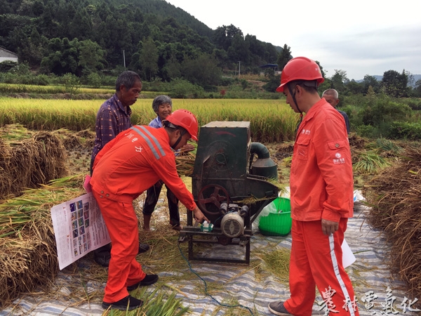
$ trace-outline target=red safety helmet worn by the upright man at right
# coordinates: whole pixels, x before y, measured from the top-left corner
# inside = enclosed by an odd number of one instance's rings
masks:
[[[319,65],[305,57],[295,57],[288,61],[283,67],[281,85],[276,91],[283,92],[283,86],[293,80],[317,80],[317,86],[324,81]]]

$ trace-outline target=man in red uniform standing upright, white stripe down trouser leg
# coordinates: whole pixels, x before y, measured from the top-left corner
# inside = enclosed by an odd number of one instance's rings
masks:
[[[312,315],[315,287],[329,315],[359,315],[341,249],[353,216],[351,151],[344,119],[317,93],[323,80],[316,62],[298,57],[283,68],[276,89],[294,112],[306,115],[290,168],[290,298],[269,303],[275,315]]]

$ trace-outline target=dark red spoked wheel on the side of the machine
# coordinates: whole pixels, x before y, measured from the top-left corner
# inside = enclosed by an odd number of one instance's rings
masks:
[[[199,209],[208,215],[219,215],[222,202],[229,204],[229,196],[227,190],[220,185],[204,186],[197,198]]]

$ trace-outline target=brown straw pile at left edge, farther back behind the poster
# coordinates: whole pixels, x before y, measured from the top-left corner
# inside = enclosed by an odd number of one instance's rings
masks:
[[[20,125],[0,129],[0,200],[67,174],[66,152],[53,133]]]

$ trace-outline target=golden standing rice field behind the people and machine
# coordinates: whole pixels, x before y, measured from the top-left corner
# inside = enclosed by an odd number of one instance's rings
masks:
[[[104,100],[42,100],[0,98],[0,126],[22,124],[28,129],[54,131],[95,129],[95,115]],[[173,110],[194,113],[203,126],[210,121],[250,121],[253,141],[292,140],[299,116],[284,100],[173,99]],[[149,124],[156,116],[152,99],[132,106],[132,123]]]

